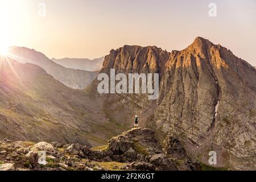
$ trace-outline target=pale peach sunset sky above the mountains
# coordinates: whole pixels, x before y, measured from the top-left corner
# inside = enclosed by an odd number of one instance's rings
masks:
[[[201,36],[256,66],[256,0],[0,0],[0,24],[0,48],[49,58],[94,59],[123,45],[171,52]]]

